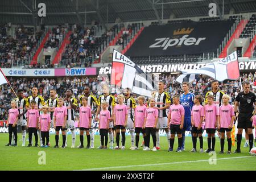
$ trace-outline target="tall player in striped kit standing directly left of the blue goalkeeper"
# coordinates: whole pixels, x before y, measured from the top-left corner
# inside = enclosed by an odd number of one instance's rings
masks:
[[[167,112],[166,109],[170,107],[171,98],[167,92],[164,92],[164,81],[158,82],[158,92],[155,93],[155,107],[158,109],[158,125],[156,126],[156,149],[160,149],[160,135],[159,129],[166,131],[167,142],[170,148],[170,130],[167,125]]]

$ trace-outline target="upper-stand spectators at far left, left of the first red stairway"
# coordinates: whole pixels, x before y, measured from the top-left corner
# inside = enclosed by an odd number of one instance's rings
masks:
[[[22,25],[15,28],[15,35],[8,34],[10,27],[0,24],[0,66],[10,68],[20,63],[28,64],[36,43],[42,36],[42,31],[34,33],[34,27]]]

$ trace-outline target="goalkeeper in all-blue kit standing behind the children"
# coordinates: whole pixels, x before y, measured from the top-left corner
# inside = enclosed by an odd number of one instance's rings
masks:
[[[182,146],[181,150],[185,150],[185,131],[191,131],[191,110],[194,105],[195,94],[189,92],[189,84],[188,82],[182,83],[183,94],[180,95],[180,104],[185,109],[185,117],[184,117],[184,126],[182,130]]]

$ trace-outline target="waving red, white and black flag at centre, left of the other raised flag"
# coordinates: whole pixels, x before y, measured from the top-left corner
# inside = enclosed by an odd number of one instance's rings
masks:
[[[115,49],[113,51],[110,84],[123,89],[130,88],[131,92],[147,97],[151,97],[151,92],[155,86],[150,76]]]

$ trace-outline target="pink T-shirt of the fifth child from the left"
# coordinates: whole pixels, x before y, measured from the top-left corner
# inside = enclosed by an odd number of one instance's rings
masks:
[[[79,109],[79,127],[89,129],[90,118],[92,118],[92,111],[90,107],[81,106]]]

